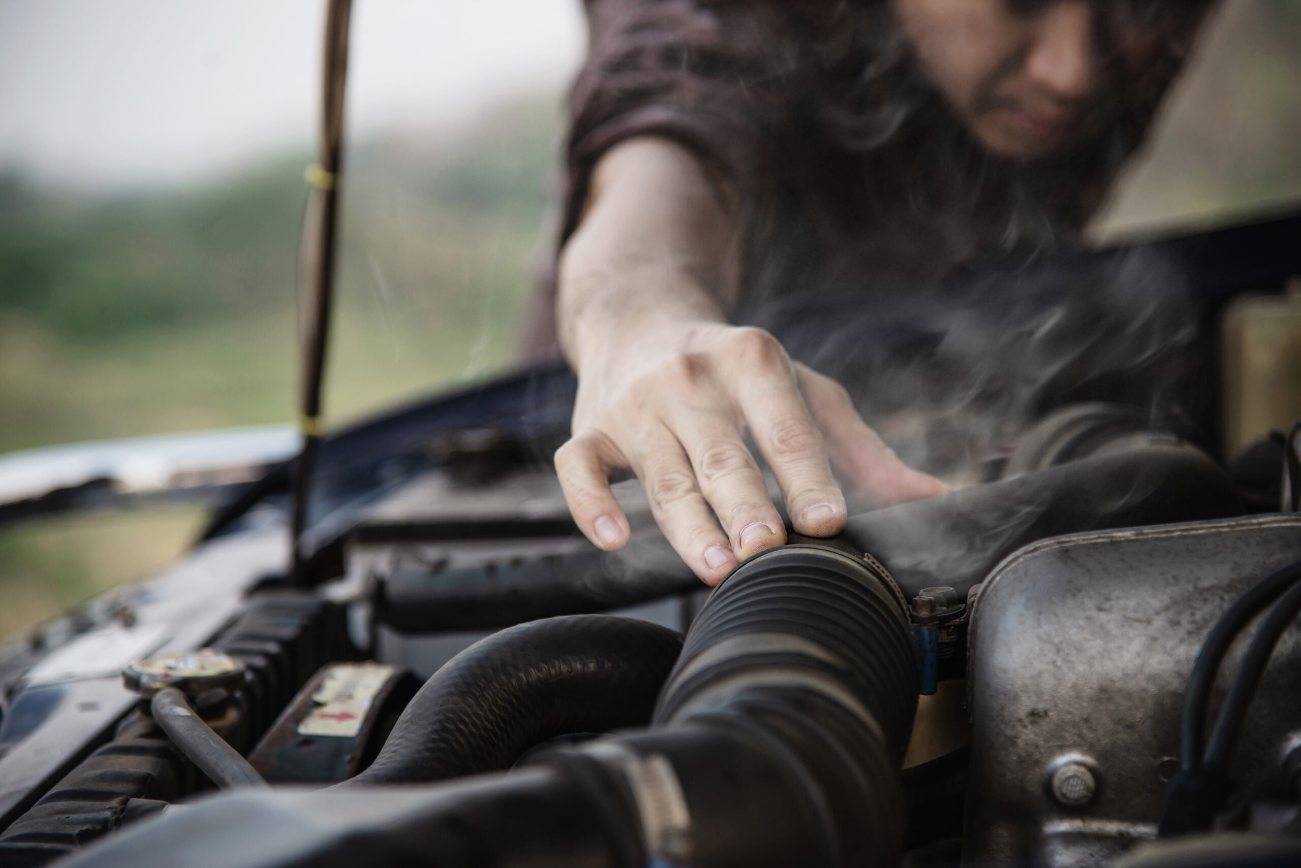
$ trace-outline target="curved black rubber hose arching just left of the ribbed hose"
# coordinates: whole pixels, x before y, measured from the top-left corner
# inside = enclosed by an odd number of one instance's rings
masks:
[[[557,735],[645,725],[680,650],[680,634],[613,615],[494,633],[424,683],[375,763],[342,786],[507,769]]]

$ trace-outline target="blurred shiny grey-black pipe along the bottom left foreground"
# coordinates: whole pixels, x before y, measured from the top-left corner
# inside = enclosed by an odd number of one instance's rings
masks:
[[[320,808],[327,807],[325,812]],[[647,868],[611,851],[589,791],[549,769],[436,786],[243,790],[141,823],[78,868]],[[333,808],[333,811],[330,811]],[[8,867],[9,863],[5,863]]]

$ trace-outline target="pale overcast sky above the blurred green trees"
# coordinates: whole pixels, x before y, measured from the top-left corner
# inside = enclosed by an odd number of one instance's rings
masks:
[[[314,140],[324,0],[0,0],[0,172],[185,183]],[[580,0],[355,0],[350,133],[558,88]]]

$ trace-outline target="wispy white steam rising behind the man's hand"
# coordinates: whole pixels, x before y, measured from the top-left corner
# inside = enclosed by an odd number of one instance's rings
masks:
[[[1184,283],[1138,251],[807,295],[748,321],[842,382],[905,463],[961,487],[994,478],[1017,437],[1063,404],[1123,403],[1188,430],[1209,390],[1197,389]]]

